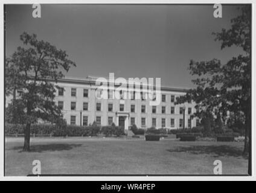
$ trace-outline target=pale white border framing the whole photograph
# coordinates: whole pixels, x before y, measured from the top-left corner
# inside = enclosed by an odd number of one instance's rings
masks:
[[[252,176],[72,176],[72,177],[4,177],[4,4],[252,4]],[[245,0],[245,1],[237,1],[237,0],[225,0],[225,1],[118,1],[118,0],[112,0],[112,1],[50,1],[50,0],[44,0],[44,1],[30,1],[30,0],[24,0],[24,1],[17,1],[17,0],[4,0],[4,2],[1,2],[1,9],[0,9],[0,31],[1,31],[1,54],[0,54],[0,78],[1,78],[1,84],[0,89],[2,90],[2,94],[0,95],[0,101],[1,101],[1,110],[0,110],[0,180],[88,180],[88,181],[124,181],[124,180],[133,180],[133,181],[169,181],[169,180],[192,180],[192,181],[201,181],[201,180],[256,180],[256,168],[254,165],[254,162],[256,160],[256,154],[255,154],[255,141],[256,141],[256,119],[254,119],[256,116],[255,110],[255,87],[256,87],[256,68],[255,68],[255,56],[256,56],[256,41],[255,41],[255,25],[256,18],[255,18],[255,11],[256,11],[256,2],[253,2],[253,0]]]

